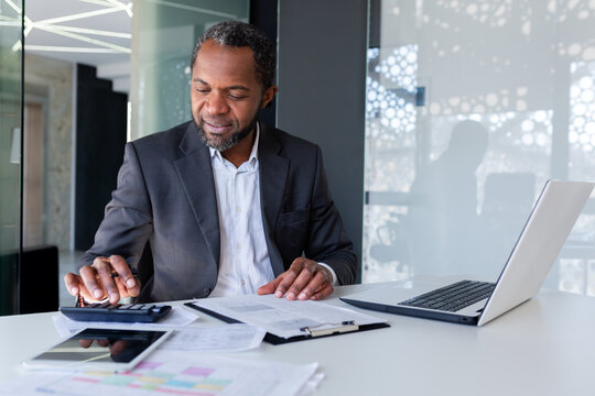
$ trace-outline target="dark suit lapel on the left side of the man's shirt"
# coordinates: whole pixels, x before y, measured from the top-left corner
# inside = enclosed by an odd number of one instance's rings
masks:
[[[180,150],[184,156],[174,162],[177,176],[218,266],[220,233],[210,153],[208,147],[201,142],[198,129],[194,122],[188,124]]]

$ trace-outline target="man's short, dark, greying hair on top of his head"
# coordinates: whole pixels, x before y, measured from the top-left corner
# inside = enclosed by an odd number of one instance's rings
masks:
[[[277,56],[273,43],[262,31],[256,26],[239,22],[225,21],[207,29],[194,46],[191,58],[191,68],[194,67],[196,56],[204,42],[213,40],[218,44],[250,47],[255,56],[256,77],[262,84],[263,89],[273,84],[274,69],[277,67]]]

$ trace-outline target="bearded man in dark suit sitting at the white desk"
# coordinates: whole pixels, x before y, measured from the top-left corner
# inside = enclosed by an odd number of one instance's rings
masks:
[[[257,121],[277,94],[273,44],[223,22],[196,43],[193,121],[126,146],[73,295],[162,301],[238,294],[321,299],[357,271],[320,148]],[[147,243],[152,260],[140,260]],[[138,272],[132,275],[130,267]]]

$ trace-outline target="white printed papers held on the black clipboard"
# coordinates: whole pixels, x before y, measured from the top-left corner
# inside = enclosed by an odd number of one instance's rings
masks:
[[[273,295],[203,298],[192,304],[227,318],[263,328],[269,333],[285,339],[305,336],[303,328],[334,328],[347,321],[353,321],[358,326],[386,322],[370,315],[322,301],[290,301]]]

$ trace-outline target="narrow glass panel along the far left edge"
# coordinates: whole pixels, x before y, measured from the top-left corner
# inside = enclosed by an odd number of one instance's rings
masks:
[[[0,1],[0,315],[19,311],[22,1]]]

